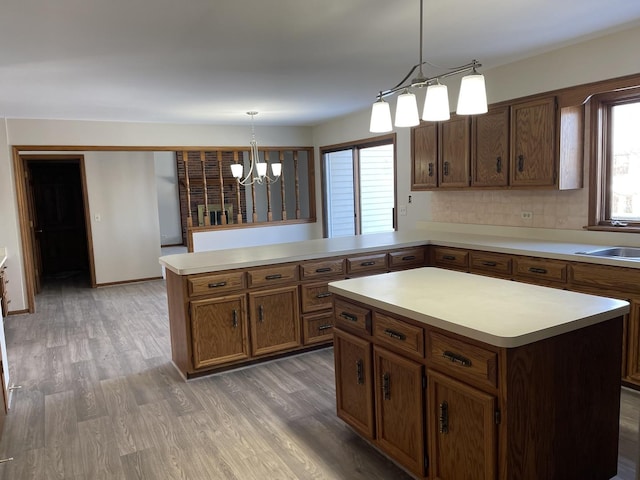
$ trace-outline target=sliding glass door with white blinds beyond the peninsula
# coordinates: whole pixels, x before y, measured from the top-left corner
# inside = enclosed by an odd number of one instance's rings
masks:
[[[395,136],[321,153],[325,236],[395,230]]]

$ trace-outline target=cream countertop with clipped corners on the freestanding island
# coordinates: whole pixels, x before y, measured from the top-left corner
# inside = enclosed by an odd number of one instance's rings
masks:
[[[431,267],[339,280],[329,291],[506,348],[629,312],[623,300]]]

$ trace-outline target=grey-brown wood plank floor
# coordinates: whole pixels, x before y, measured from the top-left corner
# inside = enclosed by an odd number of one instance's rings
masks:
[[[50,284],[6,320],[15,391],[1,480],[409,479],[335,415],[333,351],[184,382],[161,280]],[[640,394],[623,389],[618,479]]]

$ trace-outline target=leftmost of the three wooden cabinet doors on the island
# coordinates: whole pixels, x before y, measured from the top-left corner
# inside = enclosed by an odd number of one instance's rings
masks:
[[[373,440],[371,343],[342,330],[335,330],[333,354],[338,417],[360,435]]]

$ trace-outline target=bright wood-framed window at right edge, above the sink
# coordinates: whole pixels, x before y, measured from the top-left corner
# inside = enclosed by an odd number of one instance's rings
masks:
[[[590,227],[640,228],[640,89],[592,100]]]

